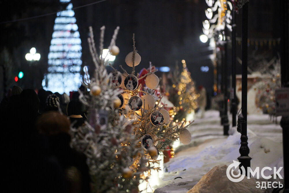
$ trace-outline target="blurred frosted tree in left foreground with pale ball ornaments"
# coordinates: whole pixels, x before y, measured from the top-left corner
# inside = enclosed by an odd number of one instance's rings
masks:
[[[117,55],[115,45],[118,27],[114,31],[108,54]],[[95,47],[92,28],[88,43],[95,64],[94,77],[85,79],[83,85],[89,93],[80,92],[80,101],[88,107],[88,121],[78,129],[72,129],[71,145],[87,156],[92,180],[92,192],[138,192],[138,184],[147,167],[147,159],[132,135],[133,125],[118,112],[120,90],[115,88],[112,74],[106,71],[106,55],[103,54],[105,27],[101,28],[99,53]],[[87,72],[86,72],[87,73]],[[88,75],[88,74],[87,74]],[[89,76],[86,76],[89,77]],[[133,165],[137,160],[137,166]]]

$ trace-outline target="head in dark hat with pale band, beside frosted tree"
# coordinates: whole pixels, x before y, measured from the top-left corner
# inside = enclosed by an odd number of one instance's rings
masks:
[[[72,100],[66,106],[67,116],[69,117],[74,128],[84,124],[82,114],[83,105],[79,100]]]

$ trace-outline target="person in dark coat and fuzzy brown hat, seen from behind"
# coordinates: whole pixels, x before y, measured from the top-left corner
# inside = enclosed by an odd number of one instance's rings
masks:
[[[36,128],[49,139],[51,154],[60,162],[66,179],[66,192],[90,192],[90,176],[86,156],[70,147],[70,121],[65,115],[51,111],[42,114]]]

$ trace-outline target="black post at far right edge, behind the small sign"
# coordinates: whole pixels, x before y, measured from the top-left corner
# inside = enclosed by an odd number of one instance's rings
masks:
[[[281,87],[289,87],[289,49],[288,49],[288,9],[289,0],[282,0],[281,2]],[[284,162],[284,192],[289,192],[289,117],[282,116],[280,125],[283,131],[283,162]]]

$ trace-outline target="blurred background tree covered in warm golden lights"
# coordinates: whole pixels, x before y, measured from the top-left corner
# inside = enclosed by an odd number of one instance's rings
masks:
[[[176,69],[173,74],[171,74],[172,87],[169,87],[168,96],[169,101],[174,104],[173,109],[169,110],[169,113],[176,123],[191,121],[186,120],[187,115],[198,108],[196,99],[199,97],[199,94],[197,94],[195,90],[194,81],[186,68],[186,62],[184,60],[182,60],[182,64],[182,72],[179,71],[176,65]]]

